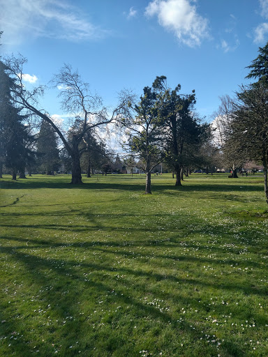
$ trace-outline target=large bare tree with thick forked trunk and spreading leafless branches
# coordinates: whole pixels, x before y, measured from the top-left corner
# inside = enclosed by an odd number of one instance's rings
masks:
[[[77,70],[72,70],[71,66],[64,65],[57,75],[54,75],[52,83],[60,92],[61,108],[73,116],[75,121],[80,122],[80,130],[73,133],[70,140],[66,138],[64,130],[59,128],[48,112],[40,107],[40,96],[43,96],[46,87],[38,86],[29,91],[23,84],[24,65],[27,59],[20,56],[6,57],[8,75],[15,79],[15,89],[13,90],[13,100],[23,107],[27,112],[36,114],[40,119],[50,123],[50,126],[57,132],[63,142],[66,151],[72,158],[72,181],[71,183],[82,183],[80,156],[82,151],[79,148],[83,136],[87,131],[99,126],[117,121],[121,116],[121,111],[125,107],[128,98],[121,96],[119,105],[110,114],[109,109],[104,107],[99,96],[92,95],[89,91],[89,84],[84,82]]]

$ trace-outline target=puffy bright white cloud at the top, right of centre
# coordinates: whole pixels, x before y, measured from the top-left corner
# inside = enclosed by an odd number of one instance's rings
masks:
[[[194,0],[154,0],[149,3],[145,15],[158,17],[158,22],[174,32],[179,42],[190,47],[200,45],[208,37],[208,20],[198,15]]]

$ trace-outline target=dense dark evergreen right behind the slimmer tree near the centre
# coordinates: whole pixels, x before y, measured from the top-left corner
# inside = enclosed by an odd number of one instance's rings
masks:
[[[198,158],[203,126],[194,115],[195,91],[188,95],[179,93],[181,86],[168,88],[166,77],[156,77],[154,89],[161,93],[163,102],[159,112],[163,126],[162,145],[165,161],[176,174],[175,185],[181,185],[184,167],[194,165]]]

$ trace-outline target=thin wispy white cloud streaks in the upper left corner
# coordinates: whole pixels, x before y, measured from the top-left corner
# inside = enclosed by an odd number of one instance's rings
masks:
[[[0,8],[3,40],[9,45],[40,37],[90,40],[108,33],[66,0],[0,0]]]

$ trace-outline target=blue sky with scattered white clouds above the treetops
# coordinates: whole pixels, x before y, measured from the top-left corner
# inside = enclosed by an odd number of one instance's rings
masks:
[[[247,83],[245,68],[268,39],[268,0],[0,0],[1,54],[28,59],[25,79],[47,84],[64,63],[115,105],[121,89],[142,94],[156,75],[211,121],[218,97]],[[31,77],[36,76],[36,77]],[[57,91],[43,100],[62,115]]]

